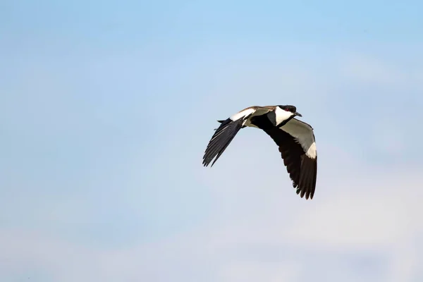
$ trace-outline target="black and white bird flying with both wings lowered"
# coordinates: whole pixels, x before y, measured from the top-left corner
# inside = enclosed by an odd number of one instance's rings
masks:
[[[250,106],[224,121],[204,152],[203,165],[219,159],[241,128],[264,130],[279,147],[283,164],[300,197],[313,198],[317,178],[317,150],[312,126],[299,121],[295,106]]]

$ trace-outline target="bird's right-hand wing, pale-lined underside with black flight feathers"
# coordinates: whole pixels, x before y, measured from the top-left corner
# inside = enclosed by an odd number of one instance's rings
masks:
[[[317,180],[317,150],[312,127],[293,118],[281,128],[264,132],[278,145],[297,194],[312,199]]]

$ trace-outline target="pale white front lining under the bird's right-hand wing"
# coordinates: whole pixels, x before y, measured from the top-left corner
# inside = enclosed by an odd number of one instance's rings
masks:
[[[317,149],[313,129],[307,123],[293,118],[286,125],[283,125],[281,130],[293,136],[300,143],[307,157],[316,159]]]

